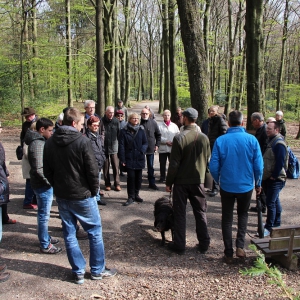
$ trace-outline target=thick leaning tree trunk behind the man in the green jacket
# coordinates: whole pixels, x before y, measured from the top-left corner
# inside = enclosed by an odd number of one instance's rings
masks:
[[[209,77],[203,32],[198,18],[197,0],[177,0],[181,38],[186,57],[192,107],[198,110],[199,124],[207,118]]]

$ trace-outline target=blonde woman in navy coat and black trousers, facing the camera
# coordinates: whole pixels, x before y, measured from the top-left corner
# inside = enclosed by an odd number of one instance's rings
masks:
[[[139,115],[131,114],[127,125],[119,135],[119,159],[127,169],[128,200],[123,204],[124,206],[133,202],[143,202],[139,196],[139,191],[142,185],[142,171],[145,168],[145,153],[148,142],[144,127],[139,122]]]

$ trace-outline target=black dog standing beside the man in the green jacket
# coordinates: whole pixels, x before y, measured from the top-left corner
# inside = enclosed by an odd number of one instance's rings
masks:
[[[173,240],[173,207],[170,200],[166,197],[159,198],[154,204],[154,227],[161,233],[161,245],[165,244],[165,231],[171,229]]]

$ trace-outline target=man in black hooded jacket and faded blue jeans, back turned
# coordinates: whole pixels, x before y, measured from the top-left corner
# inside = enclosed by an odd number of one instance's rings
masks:
[[[112,277],[117,271],[105,267],[101,218],[95,198],[99,168],[90,140],[80,133],[83,116],[70,108],[64,114],[63,124],[45,145],[44,174],[56,195],[74,282],[82,284],[86,261],[76,239],[77,220],[89,236],[91,279]]]

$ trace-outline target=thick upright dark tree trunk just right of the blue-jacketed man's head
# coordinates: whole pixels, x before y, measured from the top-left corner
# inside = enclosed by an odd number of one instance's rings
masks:
[[[263,0],[246,0],[246,71],[247,71],[247,129],[251,128],[251,115],[260,112],[261,38]]]

